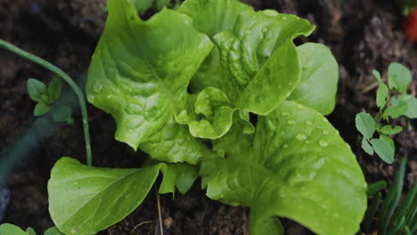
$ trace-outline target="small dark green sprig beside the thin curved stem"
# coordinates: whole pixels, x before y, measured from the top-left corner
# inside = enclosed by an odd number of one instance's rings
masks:
[[[68,106],[58,105],[53,107],[53,103],[61,96],[62,82],[61,77],[53,77],[53,80],[45,85],[43,82],[35,79],[28,79],[28,93],[32,101],[36,101],[37,105],[33,110],[33,115],[38,117],[45,115],[53,108],[53,120],[56,122],[72,123],[72,110]]]

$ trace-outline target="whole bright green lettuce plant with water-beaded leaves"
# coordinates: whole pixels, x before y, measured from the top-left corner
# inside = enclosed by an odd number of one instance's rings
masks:
[[[338,65],[324,45],[296,46],[315,26],[237,0],[186,0],[142,20],[129,0],[109,16],[86,93],[115,118],[115,139],[152,159],[135,169],[61,158],[49,211],[65,234],[95,234],[197,175],[210,199],[250,207],[250,234],[282,234],[277,216],[324,235],[353,234],[366,207],[355,155],[323,115]],[[152,163],[153,162],[153,163]]]

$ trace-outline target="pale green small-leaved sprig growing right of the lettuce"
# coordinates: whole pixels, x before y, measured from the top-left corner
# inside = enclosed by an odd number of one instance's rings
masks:
[[[407,93],[412,80],[409,69],[399,63],[388,67],[388,85],[384,83],[380,72],[373,70],[373,76],[379,87],[376,93],[376,104],[379,112],[372,118],[371,114],[361,112],[356,115],[356,128],[363,135],[362,149],[369,155],[375,152],[383,161],[392,163],[395,156],[395,144],[389,137],[403,130],[402,126],[391,126],[389,120],[399,117],[417,118],[417,99]],[[378,133],[379,138],[374,138]]]

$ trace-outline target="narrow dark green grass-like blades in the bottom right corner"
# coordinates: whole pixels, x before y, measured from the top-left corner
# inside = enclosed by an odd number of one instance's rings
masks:
[[[370,234],[372,232],[372,222],[376,218],[376,228],[378,235],[411,235],[417,231],[417,183],[406,193],[401,200],[403,182],[405,177],[406,158],[402,158],[400,166],[394,176],[394,181],[388,189],[386,197],[380,205],[381,190],[387,187],[387,182],[375,182],[368,187],[368,197],[372,198],[371,205],[367,208],[362,232]],[[380,206],[380,213],[375,217],[377,208]]]

